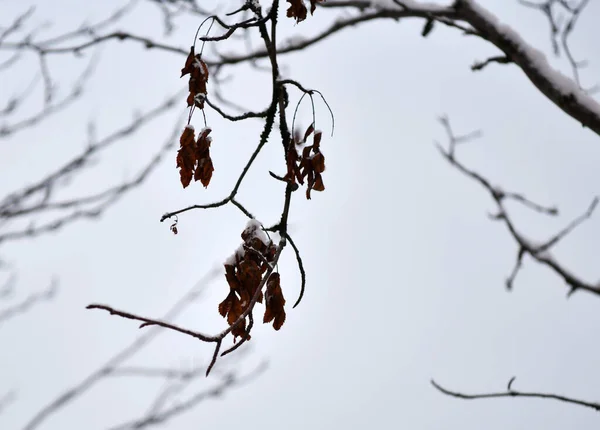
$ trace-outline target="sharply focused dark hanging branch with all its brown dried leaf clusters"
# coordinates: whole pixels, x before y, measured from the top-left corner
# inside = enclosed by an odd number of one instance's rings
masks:
[[[295,19],[296,23],[304,21],[308,14],[305,1],[287,1],[290,3],[290,7],[287,10],[287,16]],[[310,2],[310,12],[312,15],[316,9],[316,5],[324,0],[307,1]],[[170,230],[173,234],[178,234],[177,215],[187,212],[191,209],[218,208],[228,203],[232,203],[246,216],[251,218],[241,235],[243,243],[224,264],[225,279],[229,285],[229,292],[225,299],[219,303],[218,311],[219,314],[226,319],[228,327],[216,335],[206,335],[200,332],[184,329],[166,321],[146,318],[130,312],[120,311],[106,305],[92,304],[88,306],[89,309],[103,309],[110,312],[111,315],[118,315],[123,318],[141,321],[142,327],[157,325],[179,333],[184,333],[204,342],[214,343],[215,350],[213,353],[213,358],[206,370],[207,375],[210,373],[217,358],[219,357],[222,342],[226,337],[232,335],[235,345],[222,352],[220,354],[221,356],[236,350],[240,345],[251,338],[250,332],[254,325],[254,311],[257,303],[265,305],[263,323],[272,324],[275,330],[281,329],[285,323],[286,301],[281,289],[280,274],[276,270],[277,262],[281,252],[288,243],[291,244],[291,247],[294,249],[301,275],[300,295],[294,307],[300,303],[305,290],[306,274],[300,252],[287,231],[292,193],[298,189],[298,184],[304,185],[305,181],[307,184],[307,199],[311,198],[312,190],[325,190],[325,185],[323,184],[322,178],[322,174],[325,171],[325,157],[320,150],[322,133],[315,130],[315,112],[313,103],[314,94],[320,95],[321,98],[323,98],[323,95],[319,91],[305,89],[299,82],[296,82],[295,80],[280,78],[280,66],[278,64],[276,55],[278,53],[276,25],[279,6],[280,3],[273,3],[272,11],[263,17],[260,4],[255,1],[248,0],[240,9],[229,13],[228,16],[233,16],[239,12],[250,10],[254,12],[255,16],[253,18],[245,19],[244,21],[240,21],[236,24],[227,24],[217,16],[210,16],[200,24],[196,32],[196,36],[194,37],[195,39],[197,38],[202,25],[210,20],[212,20],[212,23],[209,26],[208,32],[210,32],[210,28],[212,27],[213,23],[218,23],[221,27],[226,29],[226,32],[215,37],[208,37],[207,32],[206,36],[200,37],[199,39],[202,41],[202,43],[226,40],[233,36],[236,30],[258,28],[259,33],[265,42],[266,52],[269,54],[268,58],[271,63],[273,77],[271,104],[267,109],[261,112],[246,112],[237,117],[233,117],[225,114],[220,108],[214,105],[212,100],[208,99],[207,95],[209,70],[206,62],[202,60],[202,48],[200,49],[200,52],[196,54],[195,48],[192,46],[186,58],[185,65],[181,69],[181,77],[189,75],[189,93],[186,99],[187,106],[189,108],[189,118],[187,125],[181,134],[179,140],[180,147],[177,151],[177,168],[179,169],[180,181],[183,188],[187,188],[192,179],[194,181],[200,181],[204,187],[208,187],[214,172],[213,161],[210,156],[212,138],[209,137],[212,129],[206,124],[206,115],[204,112],[205,105],[209,105],[219,114],[221,114],[221,116],[231,121],[248,118],[265,119],[263,132],[260,135],[260,142],[255,152],[244,167],[244,170],[238,178],[235,187],[226,198],[210,204],[192,205],[181,210],[165,213],[161,218],[161,221],[164,221],[166,219],[175,217],[174,222],[170,226]],[[270,35],[269,26],[267,26],[267,22],[269,21],[272,24]],[[213,70],[213,73],[218,73],[218,71],[219,69],[217,68]],[[216,75],[213,75],[213,79],[215,76]],[[313,122],[312,125],[306,130],[303,137],[301,135],[297,135],[293,139],[289,139],[288,137],[289,127],[288,118],[286,118],[286,109],[289,99],[286,85],[293,86],[303,92],[303,96],[300,98],[300,101],[296,107],[296,111],[294,112],[294,119],[292,120],[292,132],[294,131],[293,124],[295,121],[296,112],[298,110],[298,106],[302,102],[302,99],[307,95],[311,99],[311,104],[313,106]],[[323,101],[329,108],[329,105],[324,98]],[[200,109],[204,117],[204,128],[198,133],[196,133],[194,126],[191,124],[192,116],[196,109]],[[331,112],[330,108],[329,111]],[[271,176],[273,176],[275,179],[286,182],[285,200],[279,223],[268,229],[263,229],[261,223],[256,221],[253,215],[246,210],[239,201],[236,200],[236,194],[254,159],[261,151],[263,146],[267,143],[268,138],[273,130],[273,126],[277,120],[277,114],[279,114],[279,128],[284,146],[287,173],[285,177],[278,176],[272,172],[269,173],[271,173]],[[333,121],[334,119],[332,113],[332,129]],[[313,137],[312,143],[308,144],[307,139],[311,135]],[[273,243],[267,232],[274,232],[278,234],[279,242],[277,244]]]

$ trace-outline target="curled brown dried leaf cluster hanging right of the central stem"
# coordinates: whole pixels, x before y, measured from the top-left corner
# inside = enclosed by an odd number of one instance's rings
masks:
[[[313,134],[313,144],[306,145],[306,140]],[[287,173],[284,176],[286,181],[304,184],[304,178],[307,178],[306,198],[310,199],[310,191],[323,191],[325,185],[321,173],[325,171],[325,156],[321,152],[321,131],[315,131],[314,125],[311,124],[304,138],[300,136],[294,137],[294,142],[290,145],[286,154]],[[302,148],[302,145],[305,145]],[[301,156],[298,154],[298,149],[301,149]]]

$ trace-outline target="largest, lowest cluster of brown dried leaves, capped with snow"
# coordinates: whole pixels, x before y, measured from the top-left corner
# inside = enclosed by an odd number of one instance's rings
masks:
[[[275,259],[277,246],[262,231],[260,223],[250,220],[242,232],[244,243],[225,262],[225,278],[229,284],[229,294],[219,304],[219,313],[233,325],[251,306],[252,298],[258,294],[257,302],[263,302],[263,292],[259,291],[263,284],[263,275]],[[273,328],[279,330],[285,322],[285,299],[281,291],[279,273],[272,272],[266,281],[264,293],[264,323],[273,322]],[[249,317],[252,320],[252,312]],[[250,329],[250,327],[249,327]],[[240,337],[249,340],[249,329],[246,330],[246,319],[241,320],[231,333],[234,339]]]

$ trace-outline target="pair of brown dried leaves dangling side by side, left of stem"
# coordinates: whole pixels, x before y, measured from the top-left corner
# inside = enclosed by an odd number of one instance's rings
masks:
[[[208,187],[212,172],[214,170],[212,159],[210,158],[210,144],[212,138],[209,136],[210,128],[204,128],[195,139],[194,127],[188,125],[183,130],[179,139],[179,151],[177,151],[177,167],[179,167],[179,176],[181,185],[186,188],[192,178],[194,181],[202,182],[204,187]]]

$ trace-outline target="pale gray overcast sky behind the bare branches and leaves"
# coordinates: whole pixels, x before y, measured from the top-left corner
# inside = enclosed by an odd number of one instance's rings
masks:
[[[58,30],[97,19],[117,4],[57,0],[38,5],[36,16]],[[541,15],[516,1],[481,4],[551,52]],[[27,5],[9,0],[0,9],[12,17]],[[140,11],[127,28],[162,37],[157,8]],[[588,84],[598,83],[600,70],[593,18],[598,14],[600,6],[591,4],[572,42],[575,54],[590,61],[583,74]],[[328,16],[318,13],[297,26],[285,20],[282,32],[306,34]],[[481,139],[459,148],[466,165],[506,190],[560,207],[558,219],[515,208],[522,231],[537,240],[583,212],[600,192],[600,145],[516,67],[471,72],[475,60],[496,54],[493,47],[444,28],[423,39],[421,24],[376,22],[285,57],[286,75],[321,90],[336,119],[332,138],[328,113],[317,105],[317,127],[325,130],[326,191],[313,193],[308,202],[295,196],[292,204],[292,232],[308,276],[306,295],[300,306],[290,307],[279,332],[267,325],[255,328],[240,368],[250,371],[268,359],[264,374],[164,429],[552,430],[591,428],[597,422],[592,410],[542,400],[460,401],[429,384],[435,378],[459,391],[496,391],[516,376],[518,389],[591,401],[600,397],[600,350],[593,346],[600,325],[597,298],[578,293],[567,300],[563,283],[527,259],[514,291],[506,291],[516,247],[503,225],[489,221],[486,214],[494,206],[485,190],[439,156],[432,143],[445,143],[445,136],[436,118],[448,114],[459,134],[483,131]],[[189,46],[196,25],[182,21],[169,43]],[[82,148],[91,118],[102,135],[126,123],[134,109],[147,109],[187,85],[178,79],[184,58],[177,55],[111,43],[101,59],[76,107],[2,142],[0,191],[34,180]],[[65,85],[74,73],[69,64],[82,64],[71,56],[52,61]],[[569,73],[564,59],[550,61]],[[10,78],[17,87],[30,79],[20,73]],[[226,91],[241,104],[261,109],[270,97],[261,90],[267,88],[265,79],[238,76]],[[12,89],[2,85],[0,100]],[[179,112],[155,120],[111,153],[114,162],[100,166],[79,190],[133,174],[140,157],[149,159],[168,137],[176,114],[184,112],[183,99],[181,104]],[[166,211],[225,196],[257,143],[260,122],[229,124],[210,110],[207,115],[215,163],[208,190],[200,184],[181,189],[173,151],[143,188],[100,221],[2,248],[2,256],[20,270],[16,298],[43,288],[53,275],[60,278],[60,294],[52,304],[0,328],[0,394],[17,391],[16,401],[0,415],[0,428],[21,429],[50,399],[139,333],[135,323],[87,311],[87,304],[161,316],[239,244],[246,220],[233,207],[182,215],[177,236],[168,223],[158,222]],[[308,121],[305,110],[300,123]],[[200,115],[194,124],[202,126]],[[267,174],[281,170],[280,157],[272,138],[241,189],[242,203],[265,224],[277,219],[282,204],[281,186]],[[595,281],[599,235],[600,222],[592,218],[554,253]],[[280,273],[291,304],[299,290],[291,249],[284,252]],[[227,288],[219,276],[202,303],[177,322],[209,333],[222,329],[216,306]],[[164,333],[132,364],[190,368],[206,362],[211,351],[210,345]],[[223,360],[217,369],[231,365]],[[160,381],[135,378],[104,381],[40,428],[119,424],[139,416],[160,387]]]

